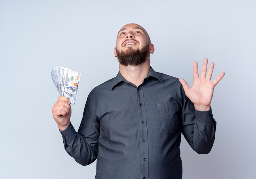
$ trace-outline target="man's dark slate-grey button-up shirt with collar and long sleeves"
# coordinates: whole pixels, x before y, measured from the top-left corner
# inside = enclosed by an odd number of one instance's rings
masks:
[[[95,179],[181,179],[181,133],[205,154],[215,130],[211,110],[195,110],[177,78],[150,68],[138,87],[119,72],[94,88],[78,132],[70,124],[61,134],[78,163],[97,159]]]

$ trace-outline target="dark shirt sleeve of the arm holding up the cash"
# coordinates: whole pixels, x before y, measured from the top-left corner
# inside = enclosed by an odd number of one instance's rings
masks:
[[[99,126],[92,120],[90,104],[87,101],[78,132],[72,124],[63,131],[63,143],[67,153],[81,165],[89,165],[97,159]]]

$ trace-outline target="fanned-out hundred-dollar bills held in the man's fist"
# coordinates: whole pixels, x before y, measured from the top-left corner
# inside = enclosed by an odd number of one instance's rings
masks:
[[[76,94],[80,80],[80,73],[56,66],[52,69],[52,80],[59,95],[67,97],[70,104],[76,103]]]

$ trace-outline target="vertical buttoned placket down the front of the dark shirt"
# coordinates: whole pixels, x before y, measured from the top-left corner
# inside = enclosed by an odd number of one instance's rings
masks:
[[[137,88],[137,102],[139,111],[139,130],[140,130],[140,162],[141,179],[148,179],[148,129],[146,119],[146,109],[143,95],[143,85]]]

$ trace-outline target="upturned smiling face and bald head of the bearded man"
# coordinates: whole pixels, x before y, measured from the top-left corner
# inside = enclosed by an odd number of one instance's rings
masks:
[[[146,60],[139,58],[147,58],[149,57],[149,53],[153,52],[154,45],[150,43],[148,33],[138,24],[127,24],[118,32],[115,57],[118,58],[119,62],[130,57],[128,64],[131,64],[130,62],[132,62],[135,57],[137,59],[135,59],[136,62],[133,65],[136,65]]]

